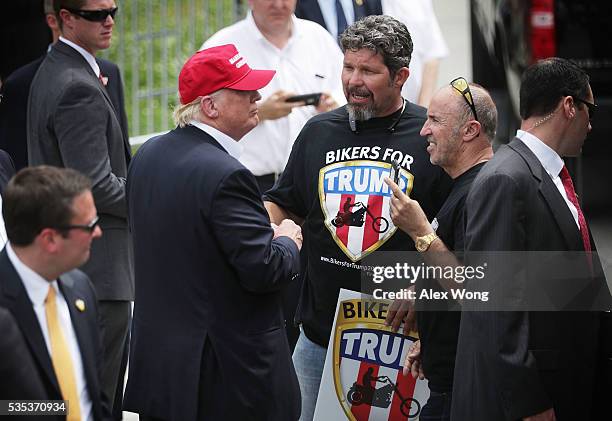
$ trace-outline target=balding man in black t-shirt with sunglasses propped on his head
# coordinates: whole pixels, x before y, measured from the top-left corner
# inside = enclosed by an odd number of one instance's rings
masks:
[[[386,180],[393,191],[391,219],[415,241],[428,265],[445,264],[439,261],[448,258],[443,252],[463,251],[465,198],[478,171],[493,156],[491,141],[495,137],[496,122],[497,110],[488,92],[480,86],[468,85],[463,78],[455,79],[432,98],[421,135],[427,136],[431,162],[442,167],[454,181],[432,223],[418,200],[411,199],[395,183]],[[417,282],[417,290],[424,287],[423,282]],[[427,288],[432,287],[440,291],[445,288],[437,282],[427,285]],[[407,369],[415,377],[426,377],[431,391],[420,419],[450,419],[461,313],[457,311],[456,302],[449,300],[444,304],[445,310],[441,310],[438,303],[435,310],[425,308],[431,305],[428,302],[417,308],[420,342],[408,354]],[[405,315],[405,311],[391,310],[387,320],[395,319],[397,327],[397,322]]]

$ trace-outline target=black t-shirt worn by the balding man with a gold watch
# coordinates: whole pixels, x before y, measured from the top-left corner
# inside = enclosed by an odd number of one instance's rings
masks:
[[[456,252],[464,250],[465,199],[483,165],[484,163],[475,165],[455,179],[448,198],[432,223],[434,228],[437,225],[436,234],[449,250]],[[422,284],[417,282],[417,289],[422,287]],[[444,291],[435,282],[428,283],[427,287]],[[417,312],[423,371],[429,381],[430,389],[440,393],[449,392],[453,388],[455,354],[461,321],[459,305],[452,300],[445,305],[447,311]]]

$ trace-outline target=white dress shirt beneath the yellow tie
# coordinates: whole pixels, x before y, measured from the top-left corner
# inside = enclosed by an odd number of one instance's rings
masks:
[[[62,292],[57,286],[57,281],[49,283],[43,279],[38,273],[34,272],[28,266],[26,266],[19,257],[15,254],[15,251],[11,247],[11,243],[6,244],[6,252],[9,260],[15,267],[17,274],[23,282],[23,286],[26,289],[28,297],[32,302],[32,308],[38,319],[40,330],[42,331],[43,337],[45,338],[45,344],[47,345],[47,351],[49,352],[49,358],[51,358],[51,343],[49,341],[49,328],[47,327],[47,315],[45,313],[45,299],[49,293],[49,285],[55,289],[56,292],[56,304],[59,322],[64,333],[64,338],[70,350],[72,357],[72,364],[74,367],[74,375],[76,379],[77,393],[79,395],[79,402],[81,404],[81,419],[92,421],[93,410],[91,404],[91,398],[89,391],[87,390],[87,381],[85,380],[85,371],[83,370],[83,359],[81,357],[81,350],[77,341],[76,332],[72,326],[72,320],[70,319],[70,312],[68,311],[68,303],[62,295]]]

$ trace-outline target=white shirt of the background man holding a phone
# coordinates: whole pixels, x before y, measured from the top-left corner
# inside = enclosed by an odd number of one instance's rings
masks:
[[[202,46],[234,44],[253,69],[273,69],[276,75],[260,89],[263,100],[283,89],[296,95],[329,92],[339,105],[346,103],[342,91],[343,55],[332,36],[319,24],[292,17],[291,38],[284,48],[272,45],[255,25],[252,14],[210,37]],[[294,108],[291,114],[260,122],[240,140],[240,162],[255,175],[283,171],[293,142],[310,117],[313,106]]]

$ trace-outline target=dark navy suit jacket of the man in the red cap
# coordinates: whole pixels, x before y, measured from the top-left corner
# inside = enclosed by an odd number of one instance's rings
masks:
[[[166,420],[296,420],[280,289],[299,254],[272,239],[254,176],[187,126],[128,175],[136,300],[124,409]]]

